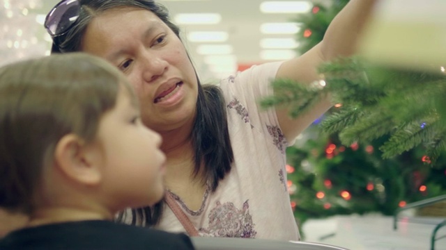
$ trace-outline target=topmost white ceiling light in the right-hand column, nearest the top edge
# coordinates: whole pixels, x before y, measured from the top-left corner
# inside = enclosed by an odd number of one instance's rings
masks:
[[[260,4],[263,13],[307,13],[312,7],[309,1],[264,1]]]

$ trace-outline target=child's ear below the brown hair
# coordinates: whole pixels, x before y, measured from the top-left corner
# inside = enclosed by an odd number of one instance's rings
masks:
[[[63,136],[54,151],[54,166],[72,181],[97,185],[101,180],[98,151],[77,135]]]

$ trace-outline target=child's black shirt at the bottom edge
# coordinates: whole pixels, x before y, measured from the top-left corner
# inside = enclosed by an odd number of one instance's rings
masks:
[[[0,240],[0,249],[194,249],[183,233],[109,221],[47,224],[13,231]]]

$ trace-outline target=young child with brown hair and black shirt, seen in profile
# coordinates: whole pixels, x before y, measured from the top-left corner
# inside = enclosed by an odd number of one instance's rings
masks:
[[[70,53],[0,68],[0,207],[29,215],[0,249],[194,249],[113,222],[162,199],[160,135],[118,69]]]

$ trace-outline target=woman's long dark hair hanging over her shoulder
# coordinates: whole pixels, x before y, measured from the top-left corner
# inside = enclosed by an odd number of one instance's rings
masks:
[[[79,17],[70,30],[54,38],[52,53],[80,51],[82,38],[87,26],[95,16],[114,8],[142,8],[153,12],[180,39],[180,28],[170,21],[169,11],[153,0],[80,0]],[[189,58],[190,60],[190,58]],[[196,74],[197,76],[197,74]],[[233,151],[229,140],[224,97],[216,85],[201,85],[198,81],[197,117],[192,128],[194,147],[194,176],[202,177],[203,184],[210,185],[212,191],[218,187],[220,180],[231,170]],[[203,163],[204,169],[201,169]],[[203,176],[198,176],[203,173]],[[132,210],[132,224],[154,225],[160,221],[162,203],[152,208]],[[119,216],[118,220],[122,220]]]

